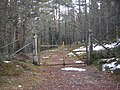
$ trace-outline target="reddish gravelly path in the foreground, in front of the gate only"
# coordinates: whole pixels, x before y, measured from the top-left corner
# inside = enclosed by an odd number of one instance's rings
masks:
[[[36,90],[120,90],[117,82],[108,74],[84,67],[85,72],[61,71],[61,67],[49,68],[42,84]],[[93,72],[94,71],[94,72]]]

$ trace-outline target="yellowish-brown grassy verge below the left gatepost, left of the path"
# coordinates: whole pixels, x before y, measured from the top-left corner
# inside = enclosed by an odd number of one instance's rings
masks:
[[[37,77],[34,77],[34,75],[36,75],[35,73],[39,73],[43,68],[45,68],[45,66],[35,66],[32,63],[20,61],[11,61],[10,63],[0,62],[0,90],[6,87],[6,85],[17,86],[20,82],[26,82],[27,84],[28,80],[32,80],[31,82],[35,83],[37,80]],[[31,73],[32,76],[26,75],[25,72],[28,72],[28,75]],[[21,81],[19,78],[22,75],[24,78],[22,78]]]

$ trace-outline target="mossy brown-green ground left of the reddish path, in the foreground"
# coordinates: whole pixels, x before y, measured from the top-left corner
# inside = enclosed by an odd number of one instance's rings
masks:
[[[15,88],[18,90],[18,85],[25,86],[24,89],[29,90],[27,87],[42,82],[43,77],[39,75],[46,74],[47,72],[43,72],[46,68],[47,66],[35,66],[32,63],[20,61],[0,62],[0,90],[14,90]]]

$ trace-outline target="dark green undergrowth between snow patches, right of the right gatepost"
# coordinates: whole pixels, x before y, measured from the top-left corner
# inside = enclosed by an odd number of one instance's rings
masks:
[[[113,58],[113,57],[119,59],[119,60],[117,60],[116,65],[120,64],[120,46],[115,47],[115,48],[111,49],[110,51],[108,51],[108,50],[94,51],[92,53],[91,64],[95,65],[99,70],[102,70],[102,64],[104,64],[106,62],[101,63],[101,59],[107,59],[107,58]],[[107,62],[107,63],[114,62],[115,60]]]

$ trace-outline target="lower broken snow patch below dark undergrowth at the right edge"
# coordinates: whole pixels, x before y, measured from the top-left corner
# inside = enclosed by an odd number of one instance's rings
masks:
[[[102,60],[109,62],[109,61],[111,61],[111,60],[113,60],[113,59],[115,59],[115,58],[102,59]],[[116,60],[118,60],[118,59],[116,59]],[[117,63],[117,61],[103,64],[103,65],[102,65],[102,71],[110,70],[111,73],[113,73],[114,70],[120,69],[120,64],[116,64],[116,63]]]

